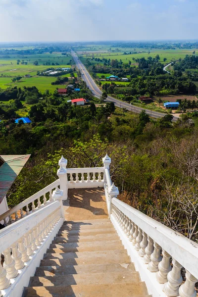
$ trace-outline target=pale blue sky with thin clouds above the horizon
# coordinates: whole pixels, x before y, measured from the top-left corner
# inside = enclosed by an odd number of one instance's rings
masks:
[[[198,39],[198,0],[0,0],[0,42]]]

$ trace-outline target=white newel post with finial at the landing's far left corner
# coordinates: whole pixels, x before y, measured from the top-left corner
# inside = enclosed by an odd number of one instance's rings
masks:
[[[57,176],[60,179],[60,190],[63,191],[62,200],[67,200],[67,160],[63,156],[61,156],[58,165],[60,166],[60,168],[57,170]]]

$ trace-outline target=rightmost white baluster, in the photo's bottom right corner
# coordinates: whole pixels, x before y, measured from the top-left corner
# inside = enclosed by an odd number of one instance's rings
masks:
[[[196,297],[195,284],[197,282],[198,280],[186,270],[186,282],[179,288],[180,297]]]

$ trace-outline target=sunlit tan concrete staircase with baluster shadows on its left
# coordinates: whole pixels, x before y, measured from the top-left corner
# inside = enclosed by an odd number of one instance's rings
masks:
[[[63,223],[23,292],[51,296],[146,297],[148,291],[112,223],[103,218]]]

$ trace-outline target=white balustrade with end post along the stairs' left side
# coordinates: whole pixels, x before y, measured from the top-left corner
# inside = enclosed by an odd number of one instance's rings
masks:
[[[62,191],[56,188],[54,192],[54,200],[46,207],[0,230],[0,254],[4,255],[3,265],[0,263],[0,290],[3,290],[3,296],[9,296],[13,290],[13,296],[21,296],[23,287],[29,283],[26,275],[34,275],[64,221]]]

